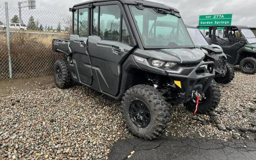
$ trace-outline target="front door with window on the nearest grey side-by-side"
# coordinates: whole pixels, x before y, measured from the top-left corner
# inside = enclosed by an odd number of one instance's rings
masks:
[[[88,50],[93,80],[101,92],[116,96],[121,83],[121,66],[131,53],[131,31],[119,2],[95,3]]]

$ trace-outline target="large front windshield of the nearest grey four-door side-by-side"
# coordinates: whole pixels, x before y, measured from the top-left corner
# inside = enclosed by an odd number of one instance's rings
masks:
[[[166,11],[129,6],[145,48],[193,48],[193,42],[181,18]]]

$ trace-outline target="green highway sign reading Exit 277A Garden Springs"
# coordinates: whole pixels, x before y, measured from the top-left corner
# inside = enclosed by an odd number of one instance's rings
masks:
[[[199,26],[231,25],[233,14],[213,14],[199,16]]]

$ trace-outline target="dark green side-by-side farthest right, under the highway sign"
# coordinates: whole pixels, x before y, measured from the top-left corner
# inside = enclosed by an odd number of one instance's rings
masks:
[[[247,26],[204,26],[209,28],[206,40],[220,45],[231,65],[240,65],[243,73],[256,72],[256,38]],[[218,27],[223,29],[223,38],[217,36]]]

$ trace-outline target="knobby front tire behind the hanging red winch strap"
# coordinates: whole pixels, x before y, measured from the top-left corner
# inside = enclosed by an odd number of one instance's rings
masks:
[[[210,113],[211,111],[214,111],[215,108],[220,103],[220,88],[218,86],[218,83],[215,82],[215,80],[212,80],[205,94],[206,94],[206,99],[204,99],[202,103],[199,102],[196,113],[199,113],[199,114]],[[192,112],[196,110],[195,100],[191,100],[190,102],[185,103],[184,106],[187,107],[188,110]]]

